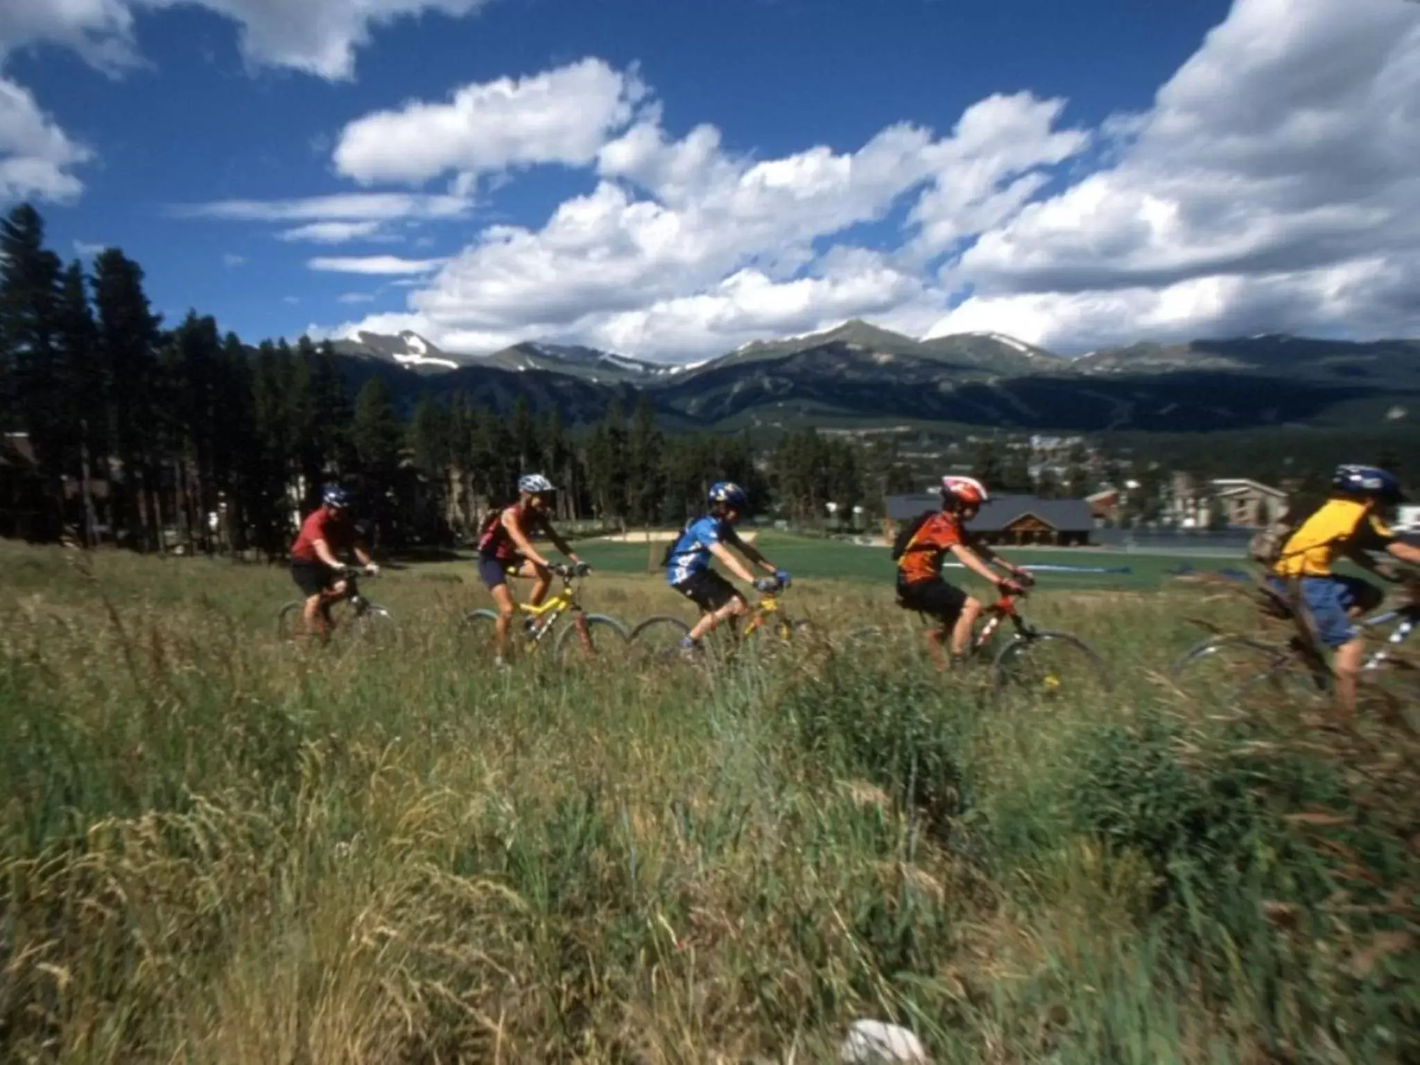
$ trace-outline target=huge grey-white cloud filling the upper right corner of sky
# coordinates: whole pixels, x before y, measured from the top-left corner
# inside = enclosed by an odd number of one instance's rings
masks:
[[[1420,328],[1420,4],[1238,0],[1116,165],[988,227],[934,327],[1066,348]]]

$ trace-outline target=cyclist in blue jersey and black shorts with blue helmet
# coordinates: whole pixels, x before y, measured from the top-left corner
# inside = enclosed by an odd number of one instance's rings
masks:
[[[699,648],[706,633],[713,632],[721,622],[740,618],[750,609],[734,585],[710,568],[711,558],[719,559],[746,584],[753,584],[757,591],[774,592],[788,586],[788,572],[775,567],[758,548],[740,540],[734,531],[748,501],[738,484],[717,481],[710,486],[710,513],[686,525],[680,538],[666,552],[666,582],[701,611],[700,621],[680,642],[687,650]],[[730,554],[731,547],[774,575],[755,581],[744,562]]]

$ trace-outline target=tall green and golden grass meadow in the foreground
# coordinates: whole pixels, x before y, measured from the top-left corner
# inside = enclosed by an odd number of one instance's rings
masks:
[[[280,571],[75,559],[0,547],[7,1059],[825,1061],[865,1015],[943,1062],[1420,1056],[1416,751],[1184,700],[1224,604],[1045,591],[1116,690],[998,707],[906,636],[500,674],[471,582],[322,652]]]

